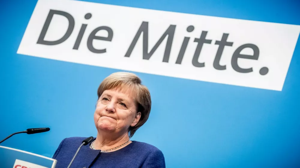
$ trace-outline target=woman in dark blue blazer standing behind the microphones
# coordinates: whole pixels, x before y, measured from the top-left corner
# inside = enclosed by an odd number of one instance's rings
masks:
[[[71,167],[165,167],[163,153],[155,146],[131,141],[148,120],[150,92],[135,74],[113,73],[98,88],[94,113],[97,137],[82,146]],[[53,158],[57,168],[66,168],[85,138],[65,138]]]

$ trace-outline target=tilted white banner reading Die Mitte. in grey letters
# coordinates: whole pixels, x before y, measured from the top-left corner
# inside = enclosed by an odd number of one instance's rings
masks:
[[[299,25],[39,0],[18,54],[281,91]]]

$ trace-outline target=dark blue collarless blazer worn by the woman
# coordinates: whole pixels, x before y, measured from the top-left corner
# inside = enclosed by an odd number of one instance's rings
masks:
[[[56,149],[53,159],[57,160],[55,168],[66,168],[76,150],[81,145],[83,137],[65,138]],[[72,168],[165,168],[163,153],[155,146],[132,141],[122,149],[114,152],[100,152],[89,145],[82,146],[75,157]]]

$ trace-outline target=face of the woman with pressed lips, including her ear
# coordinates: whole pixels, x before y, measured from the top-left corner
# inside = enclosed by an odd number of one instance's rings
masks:
[[[99,98],[94,114],[98,131],[128,132],[129,126],[135,126],[140,120],[137,113],[135,94],[130,89],[105,90]]]

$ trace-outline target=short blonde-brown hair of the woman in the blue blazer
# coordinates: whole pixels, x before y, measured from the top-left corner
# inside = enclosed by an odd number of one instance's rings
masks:
[[[141,112],[141,118],[137,125],[129,127],[128,133],[131,138],[134,133],[143,126],[149,118],[151,111],[151,96],[148,88],[141,84],[141,79],[130,72],[116,72],[106,77],[98,87],[98,99],[105,90],[120,88],[131,89],[136,92],[135,101],[137,103],[137,112]]]

